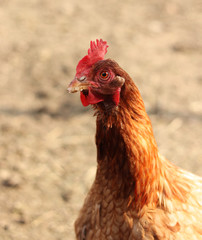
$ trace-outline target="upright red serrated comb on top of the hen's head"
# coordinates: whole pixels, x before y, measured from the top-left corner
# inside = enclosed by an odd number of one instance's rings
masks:
[[[105,54],[107,53],[107,42],[102,39],[91,41],[90,48],[88,49],[88,55],[83,57],[77,67],[76,67],[76,76],[79,78],[82,75],[85,75],[89,72],[90,67],[97,61],[103,60]]]

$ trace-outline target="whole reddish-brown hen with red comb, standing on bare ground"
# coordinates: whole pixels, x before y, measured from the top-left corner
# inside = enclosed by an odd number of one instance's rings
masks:
[[[162,157],[140,93],[91,42],[69,92],[97,116],[97,173],[75,222],[79,240],[202,239],[202,179]]]

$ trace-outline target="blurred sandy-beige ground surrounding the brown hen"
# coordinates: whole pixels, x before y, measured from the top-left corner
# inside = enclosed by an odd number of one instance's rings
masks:
[[[67,84],[90,40],[134,79],[160,152],[202,175],[199,0],[0,0],[0,238],[74,239],[95,118]]]

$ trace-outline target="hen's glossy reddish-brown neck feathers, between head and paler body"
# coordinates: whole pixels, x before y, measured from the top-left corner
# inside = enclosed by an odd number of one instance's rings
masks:
[[[161,161],[153,136],[150,119],[145,111],[140,93],[126,74],[119,106],[110,108],[99,103],[97,110],[97,160],[98,172],[117,184],[119,195],[130,198],[134,207],[159,205],[159,196],[171,198],[174,192],[169,182],[170,163]],[[165,188],[164,183],[168,185]],[[167,190],[165,190],[167,189]],[[171,196],[172,195],[172,196]]]

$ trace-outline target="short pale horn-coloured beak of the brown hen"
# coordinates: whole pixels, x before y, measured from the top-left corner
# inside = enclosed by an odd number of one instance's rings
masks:
[[[69,84],[67,91],[69,93],[75,93],[78,91],[88,89],[89,85],[90,84],[87,82],[86,76],[82,76],[80,78],[75,77],[73,81],[71,81],[71,83]]]

